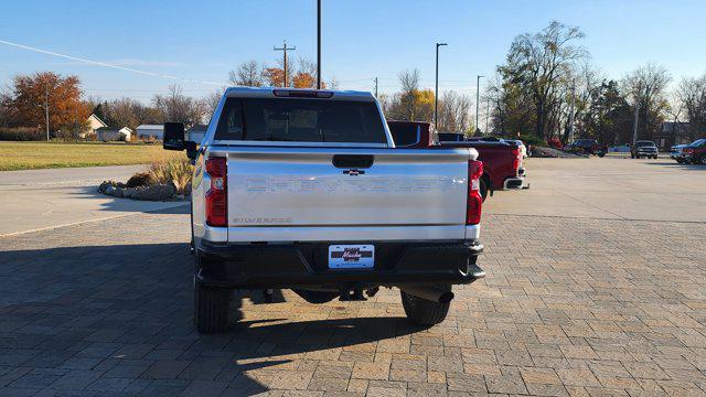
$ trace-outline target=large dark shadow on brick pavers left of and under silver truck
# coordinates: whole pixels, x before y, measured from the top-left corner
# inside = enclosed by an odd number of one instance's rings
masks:
[[[192,257],[183,243],[3,248],[0,351],[29,352],[14,362],[15,356],[7,355],[4,365],[60,368],[88,348],[95,361],[85,369],[145,361],[135,378],[176,379],[182,386],[185,380],[220,379],[234,395],[254,395],[277,380],[255,369],[297,369],[304,357],[335,360],[342,347],[420,330],[404,318],[291,322],[279,319],[291,312],[285,307],[270,314],[274,319],[234,322],[224,334],[202,335],[193,325],[192,276]],[[247,297],[261,302],[260,291],[237,294],[232,318],[243,318],[240,298]],[[275,301],[285,297],[276,291]],[[148,387],[141,393],[163,391]]]

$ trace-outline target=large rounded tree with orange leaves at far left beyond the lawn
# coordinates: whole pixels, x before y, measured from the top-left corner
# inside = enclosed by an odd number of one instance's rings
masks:
[[[17,127],[46,129],[54,137],[77,138],[86,128],[90,115],[88,104],[81,100],[81,82],[76,76],[62,77],[52,72],[18,75],[2,97],[2,105],[12,114]],[[62,131],[61,135],[57,131]]]

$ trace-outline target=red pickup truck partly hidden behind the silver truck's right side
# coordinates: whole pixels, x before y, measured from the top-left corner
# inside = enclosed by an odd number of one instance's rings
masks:
[[[514,141],[496,138],[471,138],[461,133],[437,133],[428,122],[387,121],[398,148],[474,148],[483,162],[480,192],[483,201],[496,190],[521,190],[525,186],[522,151]]]

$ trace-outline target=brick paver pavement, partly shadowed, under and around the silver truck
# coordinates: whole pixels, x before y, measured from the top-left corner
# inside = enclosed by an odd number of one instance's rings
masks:
[[[199,335],[188,222],[0,239],[0,396],[706,394],[704,224],[491,215],[489,277],[438,326],[409,325],[397,291],[285,291]]]

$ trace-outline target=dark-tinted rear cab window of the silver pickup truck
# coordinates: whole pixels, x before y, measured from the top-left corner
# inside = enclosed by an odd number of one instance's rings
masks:
[[[374,101],[227,98],[216,140],[387,143]]]

